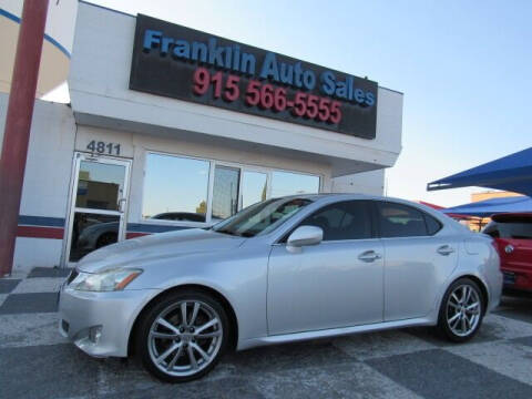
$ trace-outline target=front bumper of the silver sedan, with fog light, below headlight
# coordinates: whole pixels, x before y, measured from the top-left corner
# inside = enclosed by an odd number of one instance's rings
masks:
[[[126,357],[130,330],[153,289],[59,293],[59,331],[94,357]]]

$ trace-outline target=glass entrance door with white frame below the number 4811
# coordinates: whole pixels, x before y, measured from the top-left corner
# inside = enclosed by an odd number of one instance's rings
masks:
[[[68,263],[124,239],[129,172],[130,161],[75,154]]]

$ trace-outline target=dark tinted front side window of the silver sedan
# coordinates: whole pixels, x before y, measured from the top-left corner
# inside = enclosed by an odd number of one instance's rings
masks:
[[[371,238],[371,213],[365,201],[327,205],[300,225],[321,227],[324,241]]]

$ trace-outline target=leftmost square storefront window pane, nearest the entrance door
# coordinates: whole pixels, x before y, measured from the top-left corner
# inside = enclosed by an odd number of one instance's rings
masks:
[[[205,222],[207,161],[149,153],[144,176],[144,218]]]

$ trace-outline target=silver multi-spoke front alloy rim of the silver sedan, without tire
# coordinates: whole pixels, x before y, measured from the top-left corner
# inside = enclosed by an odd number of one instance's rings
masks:
[[[165,308],[147,336],[150,358],[161,371],[175,377],[195,375],[219,351],[224,330],[218,314],[200,300]]]

